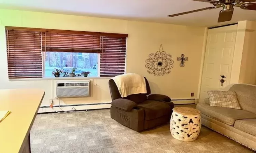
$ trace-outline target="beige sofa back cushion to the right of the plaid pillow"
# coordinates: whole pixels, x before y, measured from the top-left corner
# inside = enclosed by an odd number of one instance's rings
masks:
[[[252,113],[256,112],[256,86],[235,84],[229,91],[237,93],[237,99],[243,110]]]

